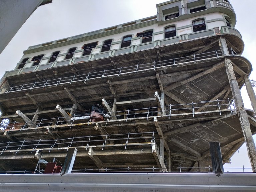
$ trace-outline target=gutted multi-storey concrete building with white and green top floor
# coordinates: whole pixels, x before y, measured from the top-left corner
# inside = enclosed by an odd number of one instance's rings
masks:
[[[156,7],[156,16],[24,51],[1,79],[2,173],[208,172],[209,142],[224,163],[246,142],[256,171],[252,66],[232,6]],[[244,84],[254,111],[243,107]]]

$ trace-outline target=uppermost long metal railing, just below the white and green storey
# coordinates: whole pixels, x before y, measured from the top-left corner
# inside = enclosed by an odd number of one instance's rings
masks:
[[[222,56],[221,50],[215,50],[211,52],[206,53],[200,53],[200,54],[193,54],[190,56],[185,57],[179,57],[179,58],[173,58],[163,61],[155,61],[151,63],[146,64],[137,64],[133,66],[127,66],[127,67],[120,67],[116,69],[110,69],[110,70],[103,70],[103,71],[97,71],[97,72],[89,72],[82,75],[73,75],[68,77],[60,77],[57,79],[47,79],[44,81],[34,83],[24,83],[23,85],[18,86],[11,86],[6,88],[4,93],[9,92],[19,92],[21,90],[31,90],[36,88],[45,88],[50,86],[58,86],[63,84],[71,84],[73,82],[79,82],[83,81],[86,83],[87,80],[96,79],[96,78],[103,78],[103,77],[110,77],[110,76],[119,76],[123,74],[132,74],[132,73],[139,73],[139,72],[145,72],[150,70],[156,70],[163,67],[175,67],[177,65],[182,65],[187,62],[194,62],[200,61],[203,59],[208,58],[219,58],[219,56]]]

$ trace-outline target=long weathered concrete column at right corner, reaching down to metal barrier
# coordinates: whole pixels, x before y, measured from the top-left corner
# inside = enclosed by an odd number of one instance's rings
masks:
[[[248,155],[251,161],[252,170],[253,172],[256,172],[256,148],[252,138],[250,122],[249,122],[247,113],[244,109],[243,99],[241,96],[241,92],[240,92],[230,59],[225,59],[225,67],[226,67],[226,72],[229,79],[229,84],[231,87],[231,92],[236,103],[237,113],[238,113],[242,131],[243,131],[244,140],[247,146]]]

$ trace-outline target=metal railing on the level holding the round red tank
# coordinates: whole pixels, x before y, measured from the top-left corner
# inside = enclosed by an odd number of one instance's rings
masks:
[[[184,107],[186,106],[186,107]],[[202,111],[197,111],[198,109],[203,108]],[[164,110],[161,107],[148,107],[148,108],[140,108],[140,109],[128,109],[124,111],[115,111],[111,113],[103,113],[104,122],[106,124],[108,121],[112,120],[113,118],[119,120],[128,119],[136,119],[136,118],[144,118],[148,121],[149,118],[159,116],[171,117],[186,115],[186,116],[196,116],[202,113],[219,113],[220,115],[223,112],[234,113],[236,110],[236,106],[234,101],[232,100],[213,100],[213,101],[202,101],[197,103],[187,103],[187,104],[176,104],[176,105],[168,105],[164,106]],[[88,123],[88,125],[94,119],[91,115],[91,110],[87,111],[79,111],[76,112],[74,116],[71,116],[70,121],[71,124],[67,125],[67,121],[62,118],[54,118],[54,119],[41,119],[37,121],[27,121],[27,122],[13,122],[6,125],[2,125],[2,129],[5,131],[12,131],[12,130],[24,130],[28,128],[35,128],[35,130],[39,127],[49,127],[53,130],[58,125],[65,125],[72,126],[76,124],[77,121],[83,121],[83,123]],[[81,122],[80,122],[81,123]]]

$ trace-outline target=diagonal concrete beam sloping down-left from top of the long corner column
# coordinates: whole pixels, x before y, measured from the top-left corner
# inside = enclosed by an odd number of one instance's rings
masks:
[[[184,79],[184,80],[178,81],[178,82],[176,82],[176,83],[173,83],[173,84],[167,86],[167,87],[165,88],[165,90],[166,90],[166,91],[170,91],[170,90],[172,90],[172,89],[175,89],[175,88],[177,88],[177,87],[179,87],[179,86],[181,86],[181,85],[184,85],[184,84],[186,84],[186,83],[188,83],[188,82],[190,82],[190,81],[193,81],[193,80],[195,80],[195,79],[198,79],[199,77],[202,77],[202,76],[204,76],[204,75],[206,75],[206,74],[209,74],[209,73],[211,73],[211,72],[213,72],[213,71],[216,71],[217,69],[220,69],[220,68],[223,67],[223,66],[224,66],[224,63],[223,63],[223,61],[221,61],[221,62],[219,62],[219,63],[213,65],[211,68],[206,69],[206,70],[203,71],[203,72],[197,73],[196,75],[193,75],[192,77],[186,78],[186,79]]]

